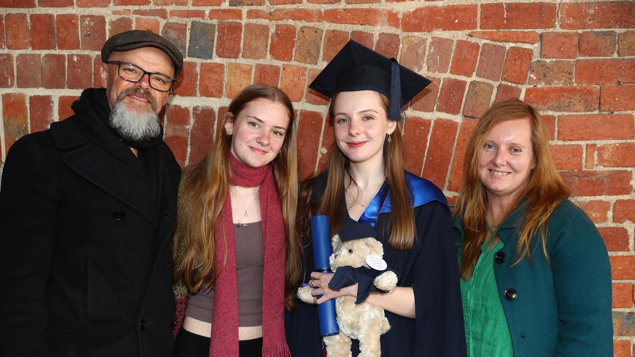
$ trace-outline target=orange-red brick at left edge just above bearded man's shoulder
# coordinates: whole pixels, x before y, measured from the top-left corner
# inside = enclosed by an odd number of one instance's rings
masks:
[[[4,152],[7,152],[14,142],[29,133],[25,95],[23,93],[4,93],[2,95],[2,116]]]

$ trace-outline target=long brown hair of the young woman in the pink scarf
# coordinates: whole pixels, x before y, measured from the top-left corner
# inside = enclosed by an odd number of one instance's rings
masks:
[[[247,104],[261,98],[283,104],[289,114],[289,126],[281,151],[271,165],[286,232],[285,306],[290,309],[293,306],[291,290],[300,274],[300,240],[296,220],[299,182],[297,130],[291,100],[283,91],[272,86],[253,84],[244,88],[229,104],[222,127],[217,130],[214,144],[203,161],[184,170],[178,194],[173,278],[184,283],[191,292],[198,292],[203,285],[213,288],[215,284],[218,274],[214,269],[215,239],[218,237],[214,236],[214,229],[219,220],[222,221],[221,211],[231,182],[231,137],[225,131],[225,123],[233,121]]]

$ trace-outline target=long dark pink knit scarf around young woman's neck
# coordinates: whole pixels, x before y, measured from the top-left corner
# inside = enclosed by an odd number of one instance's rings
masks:
[[[271,165],[252,168],[230,154],[232,183],[243,187],[260,185],[260,216],[264,243],[262,279],[262,356],[291,356],[284,337],[284,222]],[[236,246],[232,200],[227,192],[223,205],[224,239],[215,239],[216,271],[214,309],[211,321],[210,357],[238,356],[238,296],[236,285]],[[221,225],[214,235],[222,237]],[[226,254],[225,254],[226,252]]]

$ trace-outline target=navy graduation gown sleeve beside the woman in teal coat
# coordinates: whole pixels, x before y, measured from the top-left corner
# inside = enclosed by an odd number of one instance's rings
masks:
[[[450,210],[438,201],[415,209],[420,244],[413,266],[415,356],[465,356],[463,307]]]

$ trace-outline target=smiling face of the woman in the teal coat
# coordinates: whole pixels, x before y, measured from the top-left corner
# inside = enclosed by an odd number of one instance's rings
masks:
[[[514,199],[535,166],[528,118],[498,123],[485,136],[479,178],[488,197]]]

